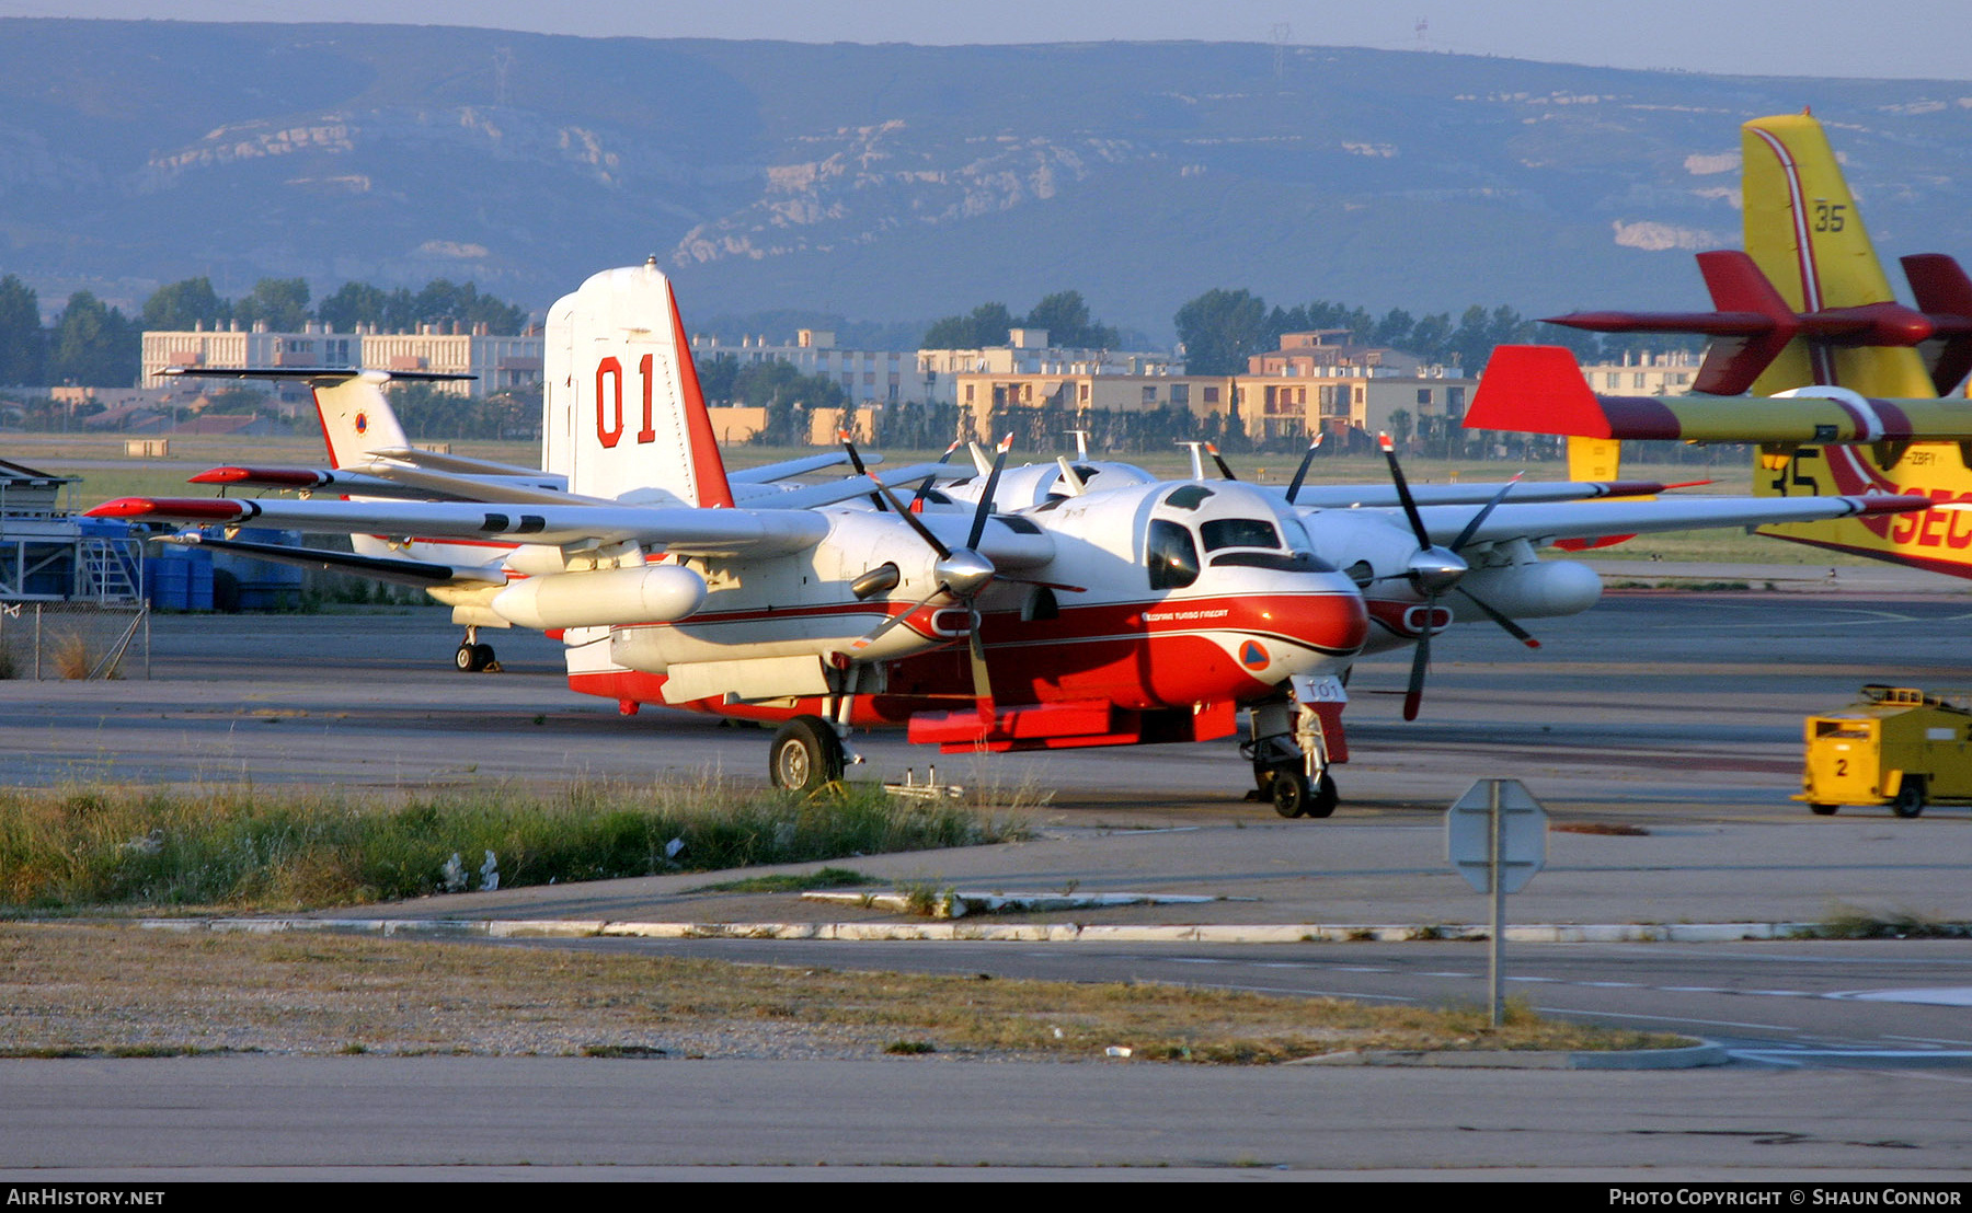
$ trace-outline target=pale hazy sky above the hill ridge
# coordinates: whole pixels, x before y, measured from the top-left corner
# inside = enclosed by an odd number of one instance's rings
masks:
[[[300,12],[298,12],[300,10]],[[1972,79],[1966,0],[0,0],[0,16],[789,41],[1268,41],[1743,75]]]

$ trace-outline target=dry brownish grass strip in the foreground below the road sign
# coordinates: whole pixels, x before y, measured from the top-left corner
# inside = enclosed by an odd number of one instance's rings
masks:
[[[1365,1006],[1169,985],[858,973],[580,945],[0,926],[4,1055],[146,1050],[590,1057],[1138,1059],[1682,1044],[1483,1006]],[[130,1053],[138,1055],[138,1053]]]

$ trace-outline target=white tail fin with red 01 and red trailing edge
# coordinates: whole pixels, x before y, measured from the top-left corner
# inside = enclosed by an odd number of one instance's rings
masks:
[[[670,280],[592,276],[548,311],[544,471],[586,496],[732,506]]]

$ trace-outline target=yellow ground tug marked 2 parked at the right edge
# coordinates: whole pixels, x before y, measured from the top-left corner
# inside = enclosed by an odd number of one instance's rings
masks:
[[[1820,815],[1889,805],[1972,803],[1972,695],[1867,685],[1850,707],[1806,719],[1800,796]]]

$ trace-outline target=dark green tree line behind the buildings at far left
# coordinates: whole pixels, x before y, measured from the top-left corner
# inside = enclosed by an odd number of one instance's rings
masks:
[[[185,278],[158,287],[134,317],[105,305],[91,291],[75,291],[53,325],[43,325],[34,287],[8,274],[0,278],[0,384],[134,384],[146,329],[217,329],[227,323],[250,329],[262,321],[276,333],[298,333],[310,321],[337,333],[353,333],[357,325],[396,331],[450,321],[515,335],[527,325],[527,309],[481,293],[471,282],[444,278],[420,291],[345,282],[319,303],[312,303],[304,278],[262,278],[241,299],[221,297],[209,278]]]

